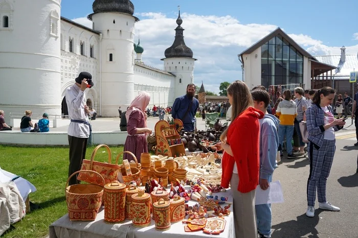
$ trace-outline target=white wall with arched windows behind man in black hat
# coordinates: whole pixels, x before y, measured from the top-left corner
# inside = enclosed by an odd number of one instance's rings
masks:
[[[70,51],[70,37],[73,39],[73,53]],[[95,86],[86,89],[86,98],[91,100],[92,107],[99,112],[99,34],[61,21],[61,100],[65,89],[75,83],[79,73],[85,71],[92,75]],[[81,55],[80,44],[83,46]],[[90,46],[93,46],[93,55]]]

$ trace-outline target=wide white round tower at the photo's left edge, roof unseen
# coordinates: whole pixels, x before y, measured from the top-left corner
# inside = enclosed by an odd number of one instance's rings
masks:
[[[61,114],[61,0],[0,0],[0,108]]]

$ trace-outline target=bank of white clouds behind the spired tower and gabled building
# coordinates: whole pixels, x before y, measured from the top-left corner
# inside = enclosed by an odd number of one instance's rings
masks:
[[[174,41],[176,16],[160,12],[137,13],[142,19],[136,23],[144,47],[143,61],[153,67],[163,68],[164,51]],[[194,82],[204,81],[205,88],[219,91],[223,81],[232,82],[242,78],[237,54],[270,34],[277,26],[270,24],[243,24],[232,16],[182,14],[186,44],[193,50],[195,62]],[[74,21],[92,27],[86,17]],[[298,44],[312,55],[340,54],[340,47],[330,47],[321,40],[313,39],[304,33],[289,34]],[[358,38],[358,33],[354,34]],[[347,54],[356,54],[358,45],[348,46]]]

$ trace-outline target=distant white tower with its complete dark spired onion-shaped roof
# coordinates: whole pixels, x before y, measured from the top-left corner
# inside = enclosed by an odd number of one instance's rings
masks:
[[[183,20],[176,19],[175,40],[172,46],[165,50],[164,68],[175,75],[174,99],[186,93],[187,85],[194,82],[194,62],[192,50],[184,42],[184,29],[181,27]]]

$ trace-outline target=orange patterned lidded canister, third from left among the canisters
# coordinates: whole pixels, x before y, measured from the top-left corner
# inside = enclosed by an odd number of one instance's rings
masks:
[[[131,212],[133,213],[132,224],[135,227],[150,225],[150,195],[139,189],[138,194],[132,195]]]

